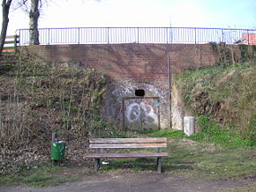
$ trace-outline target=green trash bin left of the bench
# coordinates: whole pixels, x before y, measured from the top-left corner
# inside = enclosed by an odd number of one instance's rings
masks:
[[[66,143],[64,141],[56,141],[51,143],[50,159],[64,160],[64,151]]]

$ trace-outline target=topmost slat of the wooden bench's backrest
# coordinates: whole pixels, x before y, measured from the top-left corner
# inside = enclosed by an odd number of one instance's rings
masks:
[[[166,143],[167,138],[91,138],[90,144]]]

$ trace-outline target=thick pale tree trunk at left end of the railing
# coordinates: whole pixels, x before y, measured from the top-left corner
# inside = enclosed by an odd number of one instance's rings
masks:
[[[38,18],[39,12],[39,0],[31,0],[31,7],[29,11],[29,44],[39,45],[39,33],[38,33]]]

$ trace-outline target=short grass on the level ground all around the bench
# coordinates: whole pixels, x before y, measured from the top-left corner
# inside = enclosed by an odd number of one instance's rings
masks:
[[[133,135],[135,136],[135,135]],[[162,151],[169,153],[163,159],[163,174],[181,176],[188,181],[217,181],[236,178],[255,177],[256,147],[217,144],[209,139],[192,140],[180,130],[148,130],[137,134],[137,137],[168,137],[168,148]],[[226,141],[226,140],[224,140]],[[129,150],[131,152],[133,150]],[[138,151],[138,150],[135,150]],[[155,151],[154,149],[150,151]],[[99,174],[150,173],[156,172],[155,159],[102,159],[109,162],[102,165]],[[16,170],[0,178],[6,185],[25,184],[33,187],[57,185],[63,182],[81,181],[83,175],[93,172],[93,164],[79,168],[78,176],[70,173],[72,167],[31,166]],[[77,171],[75,171],[77,172]]]

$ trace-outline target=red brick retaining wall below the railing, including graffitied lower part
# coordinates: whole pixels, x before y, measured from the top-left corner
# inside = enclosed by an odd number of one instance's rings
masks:
[[[234,61],[239,62],[238,46],[229,46],[232,47]],[[90,68],[106,73],[109,79],[104,110],[106,119],[114,119],[120,122],[120,126],[124,126],[129,125],[128,120],[136,122],[134,119],[139,116],[140,124],[143,124],[146,121],[143,119],[144,116],[152,113],[159,116],[159,128],[161,129],[170,128],[169,79],[172,74],[185,69],[214,65],[219,58],[210,44],[39,45],[19,47],[19,53],[20,55],[32,55],[37,61]],[[168,55],[169,62],[167,61]],[[156,107],[154,100],[143,102],[139,99],[125,100],[125,105],[123,105],[123,99],[135,97],[135,90],[139,89],[145,91],[145,98],[159,98],[157,102],[160,105]],[[127,109],[129,106],[131,110]],[[136,114],[139,110],[141,115]],[[130,119],[125,120],[124,114],[129,114],[129,112]],[[148,118],[148,122],[155,123],[154,117]],[[139,121],[135,123],[136,126],[134,125],[133,129],[138,128]],[[149,129],[149,126],[144,126],[144,128]],[[158,129],[156,126],[150,126],[150,128]]]

